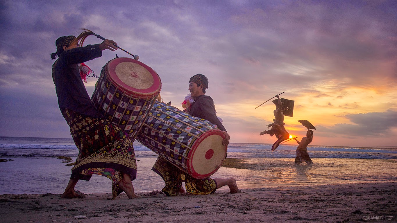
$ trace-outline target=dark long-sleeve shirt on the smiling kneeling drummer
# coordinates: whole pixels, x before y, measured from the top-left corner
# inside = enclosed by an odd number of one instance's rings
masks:
[[[218,125],[220,130],[226,131],[218,117],[216,117],[214,100],[212,100],[210,96],[203,94],[196,97],[195,101],[191,105],[189,115],[206,119],[210,121],[210,123]]]

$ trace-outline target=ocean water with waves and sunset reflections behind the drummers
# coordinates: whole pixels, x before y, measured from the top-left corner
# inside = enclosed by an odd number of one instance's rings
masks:
[[[242,159],[239,167],[220,167],[212,178],[235,178],[239,188],[310,186],[342,183],[397,182],[397,147],[364,148],[308,146],[314,165],[294,165],[296,146],[230,143],[227,158]],[[135,192],[161,190],[164,181],[151,171],[157,155],[134,142],[137,158]],[[77,157],[71,138],[0,137],[0,194],[60,194],[69,181],[70,161]],[[111,193],[111,181],[94,175],[79,181],[83,193]],[[220,189],[227,189],[220,188]],[[219,190],[220,190],[219,189]]]

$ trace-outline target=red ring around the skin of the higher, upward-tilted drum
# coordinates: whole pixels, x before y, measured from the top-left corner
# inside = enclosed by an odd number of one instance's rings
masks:
[[[122,62],[132,62],[132,63],[137,63],[144,67],[146,70],[149,71],[149,73],[153,77],[153,85],[149,88],[146,89],[137,89],[134,87],[131,87],[129,85],[126,85],[121,79],[116,75],[116,66],[119,63]],[[145,63],[142,63],[140,61],[134,60],[132,58],[127,58],[127,57],[120,57],[120,58],[115,58],[111,61],[108,62],[107,65],[108,69],[108,76],[112,81],[116,82],[121,89],[123,89],[125,92],[129,94],[133,94],[136,96],[141,96],[141,97],[152,97],[158,94],[161,90],[161,80],[156,71],[154,71],[151,67],[146,65]]]

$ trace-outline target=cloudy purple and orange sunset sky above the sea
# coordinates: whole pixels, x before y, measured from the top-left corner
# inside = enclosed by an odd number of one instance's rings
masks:
[[[313,145],[397,146],[395,0],[0,2],[0,136],[71,138],[51,77],[55,40],[80,28],[138,54],[162,81],[165,102],[181,108],[191,76],[209,79],[206,95],[231,142],[273,143],[275,94],[295,101],[291,135]],[[86,44],[102,40],[91,36]],[[87,62],[96,73],[119,57]],[[87,79],[91,96],[96,78]],[[293,144],[292,140],[287,142]],[[296,143],[295,143],[296,144]]]

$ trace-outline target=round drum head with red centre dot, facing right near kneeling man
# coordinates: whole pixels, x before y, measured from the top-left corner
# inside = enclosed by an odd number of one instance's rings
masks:
[[[222,145],[224,138],[222,131],[214,130],[194,142],[187,165],[193,177],[202,179],[218,171],[227,151],[227,146]]]

